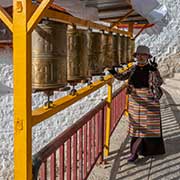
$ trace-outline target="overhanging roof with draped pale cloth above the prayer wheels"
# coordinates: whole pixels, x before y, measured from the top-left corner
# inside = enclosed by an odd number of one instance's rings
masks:
[[[32,1],[38,5],[42,0]],[[12,2],[13,0],[0,0],[0,5],[12,14]],[[168,22],[167,9],[157,0],[54,0],[50,8],[82,20],[111,23],[110,28],[126,28],[129,23],[133,23],[134,28],[136,25],[142,25],[143,29],[153,30],[152,33],[159,33]],[[80,25],[86,26],[88,23]]]

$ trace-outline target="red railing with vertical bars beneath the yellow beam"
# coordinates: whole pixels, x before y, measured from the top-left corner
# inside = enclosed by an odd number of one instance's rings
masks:
[[[125,87],[113,93],[113,133],[125,110]],[[94,165],[103,161],[106,101],[100,103],[33,157],[33,179],[85,180]]]

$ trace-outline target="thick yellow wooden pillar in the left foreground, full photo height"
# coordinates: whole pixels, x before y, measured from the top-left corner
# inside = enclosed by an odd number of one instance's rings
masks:
[[[13,0],[14,179],[32,180],[31,0]]]

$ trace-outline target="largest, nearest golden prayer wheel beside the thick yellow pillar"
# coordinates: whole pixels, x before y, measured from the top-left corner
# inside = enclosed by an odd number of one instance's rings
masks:
[[[67,83],[67,25],[42,20],[32,32],[32,88],[53,90]]]

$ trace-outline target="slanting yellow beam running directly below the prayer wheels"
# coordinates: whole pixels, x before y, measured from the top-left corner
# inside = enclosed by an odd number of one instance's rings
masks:
[[[32,126],[40,123],[44,119],[60,112],[61,110],[69,107],[73,103],[77,102],[78,100],[86,97],[87,95],[91,94],[92,92],[98,90],[102,86],[106,85],[112,80],[112,76],[108,75],[104,78],[103,81],[96,81],[92,85],[84,87],[77,91],[76,95],[68,95],[59,100],[53,102],[53,107],[49,109],[44,109],[43,107],[38,108],[32,112]]]

